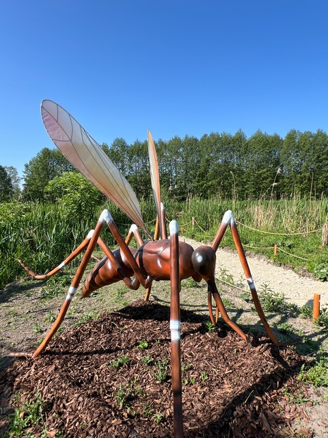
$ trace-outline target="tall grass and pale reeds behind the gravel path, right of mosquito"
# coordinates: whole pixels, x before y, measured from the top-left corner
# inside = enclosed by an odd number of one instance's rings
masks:
[[[232,209],[232,204],[232,201],[219,198],[193,198],[180,205],[169,202],[167,218],[177,219],[187,237],[211,242],[224,212]],[[295,196],[279,201],[235,201],[233,212],[245,250],[262,253],[277,263],[295,268],[305,266],[314,272],[317,266],[327,265],[328,248],[320,248],[327,211],[327,198],[307,201]],[[194,226],[192,217],[195,218]],[[275,244],[280,250],[273,257]],[[229,231],[221,245],[234,248]]]

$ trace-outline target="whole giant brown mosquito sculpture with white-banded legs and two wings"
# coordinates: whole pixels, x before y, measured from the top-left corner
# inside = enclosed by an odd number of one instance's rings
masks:
[[[41,113],[46,131],[51,140],[59,148],[61,153],[77,168],[87,179],[108,198],[120,207],[135,222],[131,226],[128,236],[124,240],[118,227],[116,226],[108,210],[102,211],[96,228],[87,235],[85,240],[79,245],[68,258],[57,268],[45,275],[36,275],[23,262],[22,266],[35,279],[45,279],[52,276],[65,265],[70,263],[74,257],[85,250],[79,268],[68,290],[66,300],[62,305],[57,319],[51,330],[46,335],[44,341],[33,353],[18,352],[11,353],[14,357],[32,357],[36,359],[44,351],[46,346],[55,335],[61,322],[64,320],[68,306],[79,287],[87,263],[92,257],[92,252],[98,244],[105,253],[105,257],[96,263],[94,269],[87,277],[83,286],[82,297],[88,296],[94,290],[115,283],[124,281],[127,287],[137,289],[142,285],[146,289],[145,300],[148,300],[152,281],[170,280],[171,282],[171,313],[170,330],[172,340],[172,390],[174,395],[174,437],[183,436],[182,425],[182,383],[181,383],[181,364],[180,364],[180,281],[190,276],[197,282],[202,279],[208,284],[208,310],[213,324],[217,322],[219,312],[223,320],[246,342],[249,339],[245,333],[229,318],[223,302],[217,292],[215,285],[215,259],[216,251],[222,237],[228,227],[232,231],[234,243],[241,264],[245,272],[247,283],[251,290],[251,296],[262,324],[264,325],[269,338],[273,344],[281,345],[271,330],[258,300],[258,294],[251,272],[245,257],[243,246],[236,228],[236,222],[232,211],[227,211],[223,216],[221,225],[210,246],[200,246],[196,250],[184,242],[178,240],[178,223],[172,221],[169,224],[170,239],[167,239],[167,229],[165,223],[165,209],[161,203],[159,170],[156,157],[156,150],[152,135],[148,131],[148,152],[150,156],[150,174],[152,189],[156,203],[157,222],[154,238],[143,223],[141,211],[137,197],[128,181],[114,166],[109,157],[102,151],[94,139],[79,125],[64,108],[53,101],[45,100],[41,104]],[[107,223],[113,237],[115,237],[118,250],[111,251],[107,244],[100,237],[100,233]],[[149,242],[143,242],[137,226],[150,237]],[[135,236],[139,249],[128,246],[131,238]],[[159,239],[159,236],[161,237]],[[131,278],[132,277],[132,278]],[[216,315],[214,318],[212,308],[212,297],[216,303]]]

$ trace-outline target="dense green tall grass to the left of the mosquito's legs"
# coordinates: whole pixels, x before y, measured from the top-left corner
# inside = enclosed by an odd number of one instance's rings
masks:
[[[46,272],[81,243],[92,227],[90,218],[70,218],[57,205],[0,204],[0,287],[22,272],[16,259]]]

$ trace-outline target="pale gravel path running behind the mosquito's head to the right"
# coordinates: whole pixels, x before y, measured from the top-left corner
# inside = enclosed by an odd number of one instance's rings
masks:
[[[182,237],[184,242],[189,243],[193,248],[200,246],[200,242]],[[294,302],[298,306],[305,304],[313,305],[314,294],[320,294],[321,307],[328,306],[328,283],[322,283],[316,279],[300,276],[296,272],[276,266],[275,263],[258,255],[248,255],[247,261],[253,276],[254,283],[259,289],[266,284],[273,292],[282,292],[286,300]],[[243,281],[248,289],[245,275],[238,254],[233,250],[219,248],[217,250],[217,275],[221,270],[234,276],[234,281]]]

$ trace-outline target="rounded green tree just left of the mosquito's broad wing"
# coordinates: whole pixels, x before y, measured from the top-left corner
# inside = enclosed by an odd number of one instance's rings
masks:
[[[23,194],[32,199],[43,199],[49,181],[70,171],[74,171],[74,167],[59,149],[44,148],[25,164]]]

